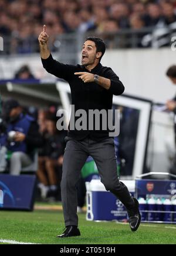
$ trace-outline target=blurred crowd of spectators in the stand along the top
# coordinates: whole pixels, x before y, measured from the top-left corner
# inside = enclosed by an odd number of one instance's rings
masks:
[[[39,51],[37,38],[43,24],[55,44],[63,33],[106,32],[103,23],[111,19],[119,29],[133,28],[133,15],[140,15],[142,28],[161,28],[175,22],[175,9],[175,0],[4,0],[0,1],[0,35],[7,40],[4,52],[25,54]],[[52,49],[57,50],[57,46]]]

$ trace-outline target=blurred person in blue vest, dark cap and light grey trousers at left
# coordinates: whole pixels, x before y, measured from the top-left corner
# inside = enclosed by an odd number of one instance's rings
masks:
[[[19,175],[22,167],[33,162],[36,148],[42,146],[38,124],[15,99],[8,99],[3,104],[2,115],[6,121],[5,147],[8,149],[9,172]]]

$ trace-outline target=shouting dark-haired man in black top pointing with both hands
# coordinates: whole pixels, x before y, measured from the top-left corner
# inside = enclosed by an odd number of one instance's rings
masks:
[[[43,67],[50,74],[69,82],[75,111],[83,109],[87,115],[90,109],[99,111],[104,109],[108,112],[112,107],[113,94],[122,94],[124,86],[111,68],[103,67],[100,64],[101,57],[106,50],[104,42],[100,38],[87,38],[82,48],[82,65],[74,66],[61,64],[52,58],[48,48],[48,38],[44,25],[43,32],[39,35]],[[87,119],[87,124],[90,124],[89,118]],[[66,230],[57,237],[80,235],[77,228],[76,183],[80,170],[89,155],[96,162],[104,187],[116,195],[126,206],[131,230],[136,231],[140,225],[138,201],[131,197],[126,185],[119,181],[114,141],[112,137],[109,137],[109,129],[104,130],[102,126],[99,131],[95,127],[92,130],[89,128],[69,129],[66,141],[61,182]]]

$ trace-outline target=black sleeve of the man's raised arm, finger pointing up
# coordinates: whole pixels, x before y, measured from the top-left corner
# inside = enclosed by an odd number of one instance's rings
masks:
[[[66,81],[69,81],[75,72],[74,65],[60,63],[59,61],[53,59],[51,54],[47,59],[42,59],[42,64],[43,68],[45,68],[47,72],[55,75],[56,77],[65,79]]]

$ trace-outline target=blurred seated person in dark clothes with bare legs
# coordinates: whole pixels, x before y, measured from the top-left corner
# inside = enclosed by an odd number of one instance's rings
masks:
[[[39,117],[41,118],[41,112]],[[45,130],[41,129],[44,146],[39,152],[38,187],[43,199],[48,197],[49,200],[55,201],[59,196],[58,183],[62,174],[66,131],[57,131],[56,114],[46,115],[45,122]]]

